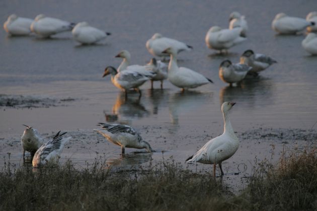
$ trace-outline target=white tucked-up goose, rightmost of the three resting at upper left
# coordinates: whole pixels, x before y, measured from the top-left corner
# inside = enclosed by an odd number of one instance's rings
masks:
[[[87,22],[76,24],[71,33],[76,41],[83,44],[93,44],[111,35],[109,32],[89,26]]]

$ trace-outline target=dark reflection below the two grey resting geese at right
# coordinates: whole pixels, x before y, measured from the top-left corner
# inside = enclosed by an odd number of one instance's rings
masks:
[[[236,86],[225,86],[220,89],[220,104],[232,100],[242,102],[249,108],[254,108],[256,104],[271,104],[273,97],[272,86],[270,79],[261,76],[244,79]]]

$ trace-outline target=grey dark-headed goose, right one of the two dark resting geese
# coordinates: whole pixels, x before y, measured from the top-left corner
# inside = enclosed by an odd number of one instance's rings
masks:
[[[249,73],[258,75],[260,71],[263,71],[272,64],[277,63],[277,61],[264,54],[254,53],[253,50],[249,49],[241,55],[240,63],[252,67]]]

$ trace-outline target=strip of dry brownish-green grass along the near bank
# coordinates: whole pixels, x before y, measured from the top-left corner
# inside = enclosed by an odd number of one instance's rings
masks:
[[[102,159],[82,170],[68,162],[0,172],[0,210],[316,210],[317,152],[264,161],[233,195],[209,173],[164,161],[137,171],[109,171]]]

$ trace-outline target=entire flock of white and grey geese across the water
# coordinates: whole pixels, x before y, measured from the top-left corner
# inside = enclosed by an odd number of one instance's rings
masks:
[[[213,26],[207,32],[205,42],[208,48],[218,50],[220,53],[227,53],[232,46],[240,44],[247,39],[248,23],[244,16],[238,12],[233,12],[229,17],[230,23],[228,29],[221,29]],[[284,13],[277,14],[272,22],[272,28],[279,34],[297,34],[307,29],[309,34],[302,41],[302,47],[310,54],[317,54],[317,36],[312,33],[317,31],[315,23],[317,22],[317,12],[311,12],[306,19],[290,17]],[[100,29],[91,27],[87,22],[78,24],[62,21],[56,18],[38,15],[34,20],[9,16],[4,24],[4,29],[13,36],[25,36],[35,33],[43,38],[50,37],[54,34],[71,31],[73,38],[83,44],[93,44],[105,39],[110,35]],[[115,57],[122,58],[123,61],[118,68],[113,66],[106,67],[103,77],[111,75],[112,83],[125,91],[135,89],[141,96],[139,86],[145,81],[163,81],[168,79],[173,85],[181,88],[183,91],[189,88],[212,83],[212,80],[204,75],[186,67],[179,67],[177,56],[182,51],[191,51],[192,46],[187,45],[175,39],[164,37],[162,34],[155,33],[147,42],[146,48],[150,54],[156,57],[170,57],[169,65],[161,60],[152,58],[145,65],[130,65],[131,55],[127,50],[122,50]],[[246,50],[241,58],[240,63],[232,64],[230,60],[224,60],[219,67],[219,77],[224,82],[238,83],[248,74],[258,75],[260,71],[267,69],[270,65],[276,63],[274,59],[264,54],[255,53],[253,50]],[[186,160],[186,163],[200,162],[219,165],[221,175],[223,170],[221,162],[230,158],[239,147],[239,140],[234,135],[228,112],[233,107],[234,102],[223,102],[221,112],[224,120],[224,130],[221,136],[208,141],[198,152]],[[26,125],[25,125],[26,126]],[[121,147],[121,153],[125,148],[145,148],[148,152],[154,152],[150,144],[142,139],[140,134],[132,127],[122,124],[105,124],[99,123],[101,129],[94,131],[103,135],[107,140]],[[64,144],[71,137],[64,137],[66,133],[58,132],[52,140],[44,143],[44,139],[33,127],[26,126],[21,144],[23,147],[23,159],[25,151],[33,155],[32,165],[40,165],[56,162],[63,150]]]

